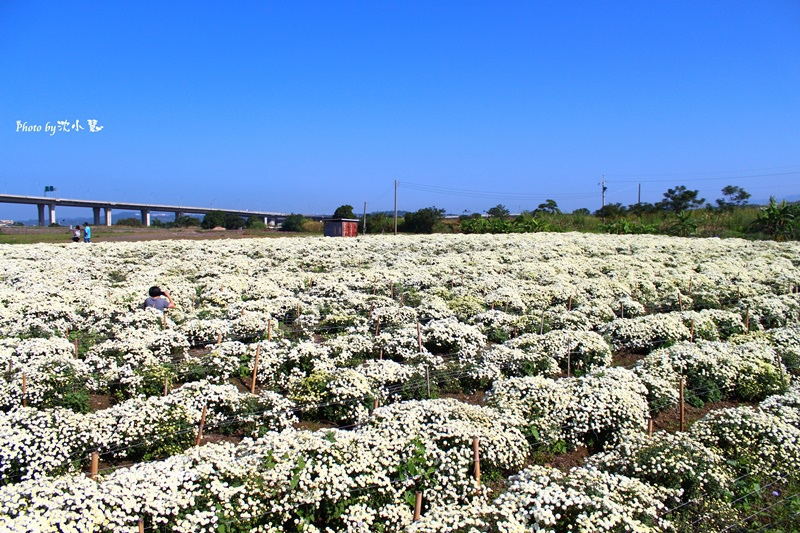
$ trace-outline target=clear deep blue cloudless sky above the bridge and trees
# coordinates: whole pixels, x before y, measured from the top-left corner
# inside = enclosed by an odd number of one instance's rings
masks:
[[[2,0],[0,193],[309,214],[392,209],[394,180],[400,209],[451,213],[595,210],[602,176],[625,205],[639,183],[795,195],[798,58],[797,0]]]

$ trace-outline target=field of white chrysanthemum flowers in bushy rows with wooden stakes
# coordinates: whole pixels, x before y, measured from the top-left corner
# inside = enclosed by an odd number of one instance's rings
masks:
[[[0,532],[797,531],[797,243],[0,251]]]

